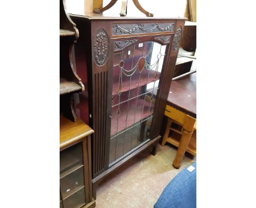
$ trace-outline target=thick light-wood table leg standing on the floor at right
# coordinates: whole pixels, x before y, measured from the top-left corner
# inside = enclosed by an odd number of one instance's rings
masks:
[[[187,132],[186,130],[183,130],[181,141],[179,142],[179,147],[172,163],[174,168],[181,167],[181,162],[184,157],[185,151],[188,148],[188,144],[190,142],[192,134],[193,132]]]

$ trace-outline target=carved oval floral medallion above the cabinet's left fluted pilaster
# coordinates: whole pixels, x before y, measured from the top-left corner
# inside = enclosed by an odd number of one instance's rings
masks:
[[[108,35],[103,29],[99,29],[94,38],[94,62],[98,66],[103,66],[108,59],[109,40]]]

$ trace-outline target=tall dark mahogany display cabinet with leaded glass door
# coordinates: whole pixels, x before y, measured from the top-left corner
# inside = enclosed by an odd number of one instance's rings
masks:
[[[95,130],[92,182],[160,138],[184,18],[106,17],[70,14],[79,29],[77,73],[88,90],[76,112]]]

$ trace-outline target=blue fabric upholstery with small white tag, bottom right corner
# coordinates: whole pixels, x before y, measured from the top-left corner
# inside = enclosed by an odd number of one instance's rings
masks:
[[[190,173],[187,168],[179,172],[165,187],[154,208],[195,208],[196,207],[196,163]]]

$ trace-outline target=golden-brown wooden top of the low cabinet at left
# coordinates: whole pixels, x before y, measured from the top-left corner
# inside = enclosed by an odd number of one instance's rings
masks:
[[[94,133],[81,119],[76,122],[60,117],[60,149],[79,142],[84,137]]]

